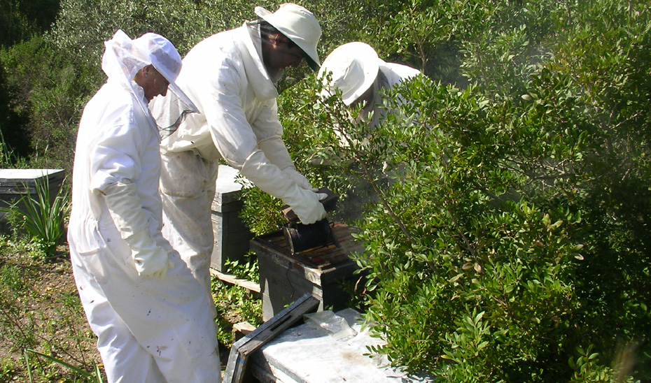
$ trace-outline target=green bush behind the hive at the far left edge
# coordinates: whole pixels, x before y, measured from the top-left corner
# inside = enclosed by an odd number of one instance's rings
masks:
[[[9,92],[10,131],[34,168],[72,169],[76,127],[90,98],[87,68],[75,66],[42,37],[0,52]],[[25,146],[29,147],[27,154]]]

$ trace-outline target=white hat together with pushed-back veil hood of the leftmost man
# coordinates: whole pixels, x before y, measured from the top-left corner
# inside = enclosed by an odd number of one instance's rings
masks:
[[[198,113],[195,104],[176,85],[176,78],[181,72],[181,55],[167,38],[148,33],[131,40],[124,31],[118,29],[113,38],[104,42],[104,45],[106,50],[102,57],[102,69],[109,79],[132,87],[136,73],[151,64],[169,82],[168,89],[190,110]]]

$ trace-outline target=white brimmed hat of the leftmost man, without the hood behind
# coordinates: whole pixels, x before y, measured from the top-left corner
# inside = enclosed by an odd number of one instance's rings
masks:
[[[190,100],[190,97],[181,90],[179,85],[176,85],[176,78],[181,73],[182,62],[181,55],[176,51],[174,45],[167,38],[153,33],[136,38],[134,45],[137,45],[143,52],[148,52],[148,59],[153,67],[169,82],[167,88],[176,94],[192,112],[199,113],[199,109]]]

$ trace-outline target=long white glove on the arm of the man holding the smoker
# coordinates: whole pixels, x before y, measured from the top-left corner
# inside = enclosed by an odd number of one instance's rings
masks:
[[[325,209],[319,201],[328,194],[315,193],[299,187],[278,166],[270,163],[261,150],[255,150],[248,156],[240,173],[263,192],[281,198],[294,210],[303,224],[314,224],[325,218]]]

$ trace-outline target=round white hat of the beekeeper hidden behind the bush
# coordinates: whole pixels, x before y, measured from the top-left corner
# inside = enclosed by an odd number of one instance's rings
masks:
[[[339,45],[325,57],[318,71],[318,78],[325,82],[323,96],[335,94],[335,89],[340,89],[344,104],[350,106],[373,85],[380,62],[377,52],[366,43],[356,41]],[[327,82],[328,73],[332,73],[330,82]]]

